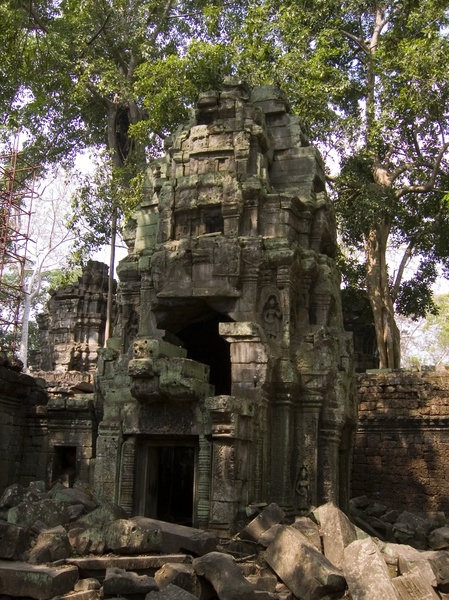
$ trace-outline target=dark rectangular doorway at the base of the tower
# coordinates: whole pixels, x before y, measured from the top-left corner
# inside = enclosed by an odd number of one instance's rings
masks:
[[[198,441],[148,439],[137,451],[135,514],[195,526]]]

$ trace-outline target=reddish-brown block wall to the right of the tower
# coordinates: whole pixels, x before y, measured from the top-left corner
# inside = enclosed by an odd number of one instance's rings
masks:
[[[391,508],[449,510],[449,373],[359,376],[352,495]]]

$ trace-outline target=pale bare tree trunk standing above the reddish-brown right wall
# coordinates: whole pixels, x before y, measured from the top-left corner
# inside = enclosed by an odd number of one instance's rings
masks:
[[[386,263],[389,233],[389,223],[384,219],[365,236],[366,284],[374,317],[379,367],[398,369],[401,361],[400,336]]]

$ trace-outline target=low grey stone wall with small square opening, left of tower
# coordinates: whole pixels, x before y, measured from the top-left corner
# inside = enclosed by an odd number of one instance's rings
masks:
[[[12,483],[90,482],[99,415],[92,375],[0,366],[0,494]]]

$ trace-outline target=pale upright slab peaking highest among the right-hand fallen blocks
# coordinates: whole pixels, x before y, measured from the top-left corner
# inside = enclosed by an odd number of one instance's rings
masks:
[[[344,550],[357,539],[354,525],[332,502],[314,511],[323,538],[324,556],[341,569]]]

